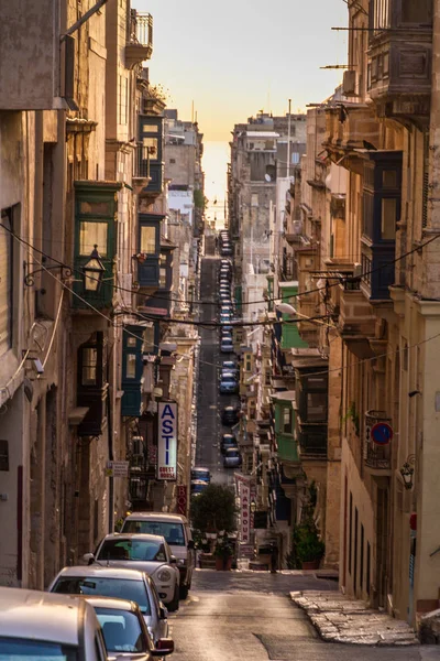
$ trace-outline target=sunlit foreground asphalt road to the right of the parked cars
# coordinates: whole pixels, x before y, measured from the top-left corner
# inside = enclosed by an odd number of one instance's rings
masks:
[[[433,661],[440,647],[326,643],[289,599],[295,589],[334,588],[296,575],[198,570],[170,617],[173,661]]]

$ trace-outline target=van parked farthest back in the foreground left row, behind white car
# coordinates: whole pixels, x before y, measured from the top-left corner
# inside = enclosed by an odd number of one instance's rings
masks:
[[[165,538],[173,555],[177,557],[180,573],[180,599],[186,599],[196,566],[196,552],[186,517],[165,512],[134,512],[125,518],[121,532],[146,532],[162,534]]]

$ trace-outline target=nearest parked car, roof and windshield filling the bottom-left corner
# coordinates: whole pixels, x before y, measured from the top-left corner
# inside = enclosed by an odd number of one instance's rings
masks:
[[[72,595],[0,587],[0,659],[107,661],[96,613]]]

